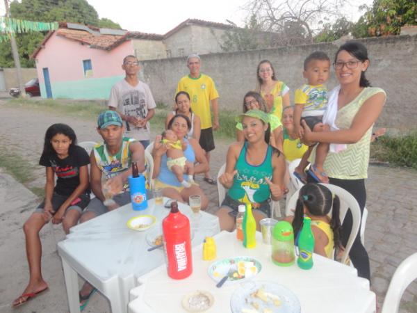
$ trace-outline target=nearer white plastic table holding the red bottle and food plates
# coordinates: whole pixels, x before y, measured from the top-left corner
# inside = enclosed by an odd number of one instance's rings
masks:
[[[261,262],[261,272],[254,280],[267,280],[291,289],[300,300],[301,312],[306,313],[373,313],[375,294],[369,290],[369,282],[357,276],[357,270],[331,259],[313,255],[314,266],[306,271],[297,267],[280,267],[270,259],[270,246],[261,243],[258,232],[257,246],[243,248],[235,233],[221,232],[215,236],[218,257],[250,256]],[[184,312],[183,296],[196,290],[213,294],[213,306],[204,312],[231,312],[230,299],[239,282],[225,282],[215,287],[207,275],[208,266],[214,261],[202,260],[202,246],[193,248],[193,274],[185,280],[172,280],[166,268],[160,266],[138,279],[139,286],[132,289],[129,313]]]

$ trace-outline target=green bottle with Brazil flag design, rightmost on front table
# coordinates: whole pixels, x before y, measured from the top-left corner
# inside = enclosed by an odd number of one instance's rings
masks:
[[[297,259],[298,267],[310,269],[313,267],[314,236],[311,232],[311,218],[304,216],[300,236],[298,237],[299,255]]]

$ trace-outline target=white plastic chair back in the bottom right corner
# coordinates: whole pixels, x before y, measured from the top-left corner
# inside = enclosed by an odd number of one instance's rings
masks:
[[[407,286],[417,279],[417,253],[410,255],[395,270],[386,291],[381,313],[398,313],[400,300]]]

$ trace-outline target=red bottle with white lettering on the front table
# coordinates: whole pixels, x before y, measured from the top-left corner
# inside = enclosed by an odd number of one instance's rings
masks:
[[[190,220],[171,202],[170,214],[162,222],[168,276],[182,280],[193,273]]]

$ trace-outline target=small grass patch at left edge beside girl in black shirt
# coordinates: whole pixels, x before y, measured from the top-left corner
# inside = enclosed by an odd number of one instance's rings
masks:
[[[28,161],[18,154],[12,154],[3,149],[0,149],[0,168],[4,168],[8,174],[22,184],[27,184],[35,179],[32,166]]]

